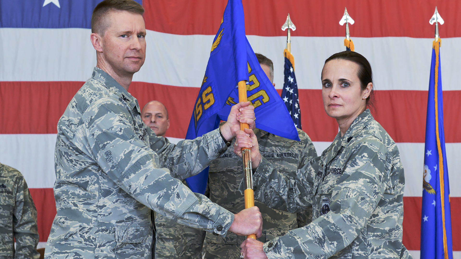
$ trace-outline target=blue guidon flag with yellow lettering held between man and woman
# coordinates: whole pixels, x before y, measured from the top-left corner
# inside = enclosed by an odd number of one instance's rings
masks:
[[[227,120],[231,106],[238,102],[237,84],[247,81],[248,101],[253,103],[256,127],[272,134],[299,140],[290,114],[259,65],[245,36],[241,0],[229,0],[218,33],[214,37],[207,70],[195,101],[186,139],[216,129]],[[189,188],[204,193],[208,171],[186,179]]]

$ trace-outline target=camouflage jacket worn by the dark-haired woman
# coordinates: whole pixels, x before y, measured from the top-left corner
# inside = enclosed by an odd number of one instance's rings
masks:
[[[369,110],[313,164],[288,176],[275,168],[263,158],[254,173],[255,199],[289,212],[312,204],[313,222],[267,241],[269,259],[411,258],[402,245],[400,154]]]

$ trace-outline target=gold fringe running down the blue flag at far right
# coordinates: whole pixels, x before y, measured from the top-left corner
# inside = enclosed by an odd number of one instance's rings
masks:
[[[439,66],[439,51],[440,51],[440,38],[432,42],[432,47],[435,50],[435,73],[434,73],[434,99],[435,99],[435,133],[437,136],[437,149],[438,149],[438,177],[440,182],[440,202],[442,208],[442,229],[443,229],[443,251],[445,259],[448,259],[448,245],[447,245],[447,230],[445,229],[445,182],[443,179],[443,154],[442,146],[440,144],[440,135],[438,131],[438,66]]]

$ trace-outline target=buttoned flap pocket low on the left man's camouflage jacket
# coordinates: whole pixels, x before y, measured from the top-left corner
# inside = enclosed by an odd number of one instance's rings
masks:
[[[115,224],[115,256],[150,259],[154,229],[151,224]]]

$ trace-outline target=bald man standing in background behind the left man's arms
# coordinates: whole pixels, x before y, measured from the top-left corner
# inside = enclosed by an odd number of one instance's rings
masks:
[[[160,101],[148,102],[141,110],[142,121],[154,131],[158,137],[165,137],[166,130],[170,128],[168,110]],[[165,137],[165,142],[170,143]],[[174,229],[176,222],[159,213],[154,212],[155,228],[157,229],[155,258],[177,258],[174,249]]]

